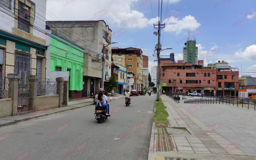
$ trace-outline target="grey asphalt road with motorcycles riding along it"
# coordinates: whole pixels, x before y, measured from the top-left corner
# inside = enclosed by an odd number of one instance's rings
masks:
[[[147,154],[139,155],[149,148],[156,94],[131,98],[132,104],[118,112],[115,107],[124,98],[109,102],[112,115],[101,124],[94,118],[95,106],[90,105],[1,127],[0,135],[10,136],[0,141],[0,160],[19,159],[25,152],[24,160],[147,159]]]

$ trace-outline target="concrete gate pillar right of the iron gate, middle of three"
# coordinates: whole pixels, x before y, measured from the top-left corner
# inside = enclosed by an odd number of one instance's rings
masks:
[[[30,110],[36,111],[36,95],[37,95],[37,82],[39,77],[36,75],[28,76],[28,81],[31,83],[31,102],[30,102]]]

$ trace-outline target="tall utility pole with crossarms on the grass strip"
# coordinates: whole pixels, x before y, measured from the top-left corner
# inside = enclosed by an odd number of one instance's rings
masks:
[[[160,24],[160,21],[158,21],[158,25],[155,25],[154,24],[154,28],[155,28],[155,26],[158,26],[158,28],[156,28],[157,29],[157,33],[158,33],[158,44],[156,45],[157,47],[156,47],[156,50],[157,50],[157,84],[156,84],[156,87],[157,87],[157,96],[156,96],[156,99],[157,100],[159,100],[159,81],[160,81],[160,79],[159,79],[159,71],[160,71],[160,69],[159,69],[159,66],[160,66],[160,59],[159,59],[159,56],[160,56],[160,50],[161,50],[161,44],[160,44],[160,28],[164,28],[164,27],[160,27],[160,26],[164,26],[164,24]]]

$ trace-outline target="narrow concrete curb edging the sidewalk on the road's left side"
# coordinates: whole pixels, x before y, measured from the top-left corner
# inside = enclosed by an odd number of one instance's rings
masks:
[[[123,98],[123,97],[120,97],[120,98]],[[118,98],[118,99],[120,99]],[[115,99],[115,100],[118,100],[118,99]],[[90,101],[89,101],[90,102]],[[86,103],[86,102],[84,102]],[[81,104],[81,103],[79,103]],[[75,104],[74,104],[75,105]],[[30,120],[30,119],[34,119],[34,118],[38,118],[38,117],[42,117],[42,116],[47,116],[47,115],[52,115],[52,114],[56,114],[56,113],[60,113],[60,112],[65,112],[65,111],[68,111],[68,110],[73,110],[73,109],[77,109],[77,108],[82,108],[82,107],[86,107],[86,106],[90,106],[91,104],[87,104],[87,105],[84,105],[84,106],[81,106],[81,107],[74,107],[74,108],[69,108],[69,109],[64,109],[64,110],[60,110],[60,111],[55,111],[55,112],[52,112],[52,113],[46,113],[46,114],[43,114],[43,115],[38,115],[38,116],[33,116],[33,117],[29,117],[29,118],[23,118],[23,119],[20,119],[20,120],[13,120],[13,122],[8,122],[8,123],[5,123],[5,124],[0,124],[0,127],[3,127],[3,126],[7,126],[7,125],[12,125],[12,124],[16,124],[18,122],[23,122],[23,121],[27,121],[27,120]],[[94,105],[95,106],[95,105]],[[4,118],[4,117],[3,117]],[[4,119],[3,119],[4,120]]]

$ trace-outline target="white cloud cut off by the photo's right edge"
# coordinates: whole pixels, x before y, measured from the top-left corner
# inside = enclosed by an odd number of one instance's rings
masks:
[[[246,47],[244,51],[240,48],[236,53],[235,57],[248,61],[256,61],[256,45]]]

